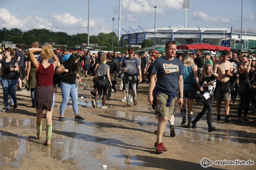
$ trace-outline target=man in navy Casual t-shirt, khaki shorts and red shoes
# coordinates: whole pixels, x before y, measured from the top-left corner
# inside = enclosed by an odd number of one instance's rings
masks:
[[[155,60],[152,65],[151,79],[149,82],[148,90],[148,102],[153,105],[155,100],[155,110],[158,114],[158,127],[157,127],[157,139],[155,143],[155,150],[157,153],[163,153],[167,151],[162,143],[162,137],[164,134],[167,120],[170,121],[172,115],[175,113],[175,105],[177,100],[177,89],[179,89],[179,101],[178,104],[183,104],[183,64],[175,58],[176,54],[176,42],[168,41],[165,45],[165,56],[162,56]],[[156,83],[155,83],[156,80]],[[153,89],[155,87],[155,94],[153,96]],[[154,97],[154,98],[153,98]],[[171,137],[174,132],[173,123],[170,124]]]

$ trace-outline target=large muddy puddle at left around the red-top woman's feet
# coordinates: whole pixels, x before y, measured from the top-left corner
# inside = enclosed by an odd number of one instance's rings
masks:
[[[42,148],[42,152],[48,152],[49,157],[57,158],[68,162],[77,168],[101,169],[101,165],[120,166],[141,166],[136,157],[127,153],[127,149],[140,145],[141,141],[125,135],[105,133],[101,127],[89,121],[72,121],[65,123],[53,121],[53,133],[65,132],[67,138],[52,140],[51,147],[43,146],[45,139],[35,139],[35,134],[18,136],[5,132],[8,126],[25,126],[28,133],[36,131],[36,120],[14,118],[0,118],[0,151],[4,160],[1,165],[11,164],[20,166],[21,155],[29,154],[30,148]],[[43,127],[44,129],[44,127]],[[68,136],[72,136],[68,137]],[[33,147],[31,147],[34,145]],[[35,146],[36,145],[36,146]],[[95,157],[98,157],[96,159]],[[106,161],[107,160],[107,161]],[[103,162],[102,162],[103,161]],[[108,169],[108,168],[107,168]]]

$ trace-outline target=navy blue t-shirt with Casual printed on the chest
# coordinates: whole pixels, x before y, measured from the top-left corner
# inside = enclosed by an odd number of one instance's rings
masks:
[[[164,56],[155,60],[151,72],[157,74],[155,90],[170,93],[177,91],[179,76],[184,74],[183,64],[178,58],[167,60]]]

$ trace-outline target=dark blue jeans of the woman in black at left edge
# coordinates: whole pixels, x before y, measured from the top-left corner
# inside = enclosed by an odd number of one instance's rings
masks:
[[[2,88],[4,92],[4,104],[5,107],[8,107],[8,94],[10,94],[14,103],[17,103],[17,98],[15,94],[15,88],[17,84],[17,80],[8,80],[1,78]]]

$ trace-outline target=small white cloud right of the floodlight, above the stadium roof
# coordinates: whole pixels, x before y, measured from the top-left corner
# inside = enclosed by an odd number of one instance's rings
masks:
[[[201,20],[205,22],[225,22],[225,23],[231,23],[231,19],[225,18],[223,16],[209,16],[206,13],[203,12],[194,12],[193,18],[195,20]]]

